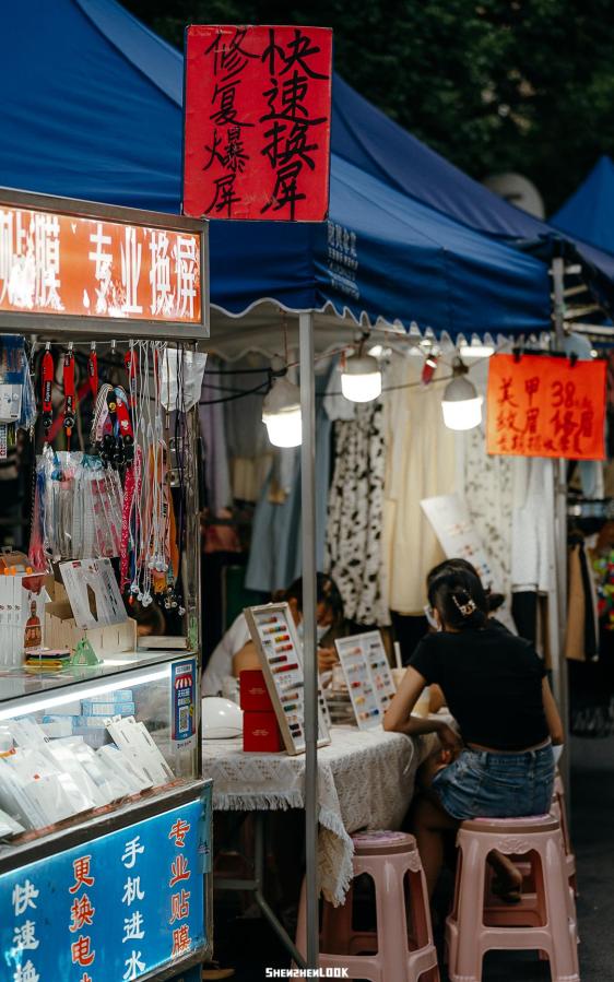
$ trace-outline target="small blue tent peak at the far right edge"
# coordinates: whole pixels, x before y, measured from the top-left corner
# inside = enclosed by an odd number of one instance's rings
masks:
[[[599,158],[551,221],[562,232],[614,253],[614,163],[609,156]]]

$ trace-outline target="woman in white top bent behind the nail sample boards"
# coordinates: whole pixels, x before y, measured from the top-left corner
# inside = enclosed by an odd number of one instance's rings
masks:
[[[273,600],[276,603],[282,601],[288,603],[298,635],[302,637],[303,580],[295,580],[287,590],[280,590]],[[329,646],[327,641],[328,636],[332,636],[343,620],[343,601],[334,581],[323,572],[318,573],[317,604],[318,669],[326,672],[336,661],[334,644],[331,642]],[[259,667],[260,661],[250,639],[247,620],[239,614],[209,659],[202,676],[202,695],[219,695],[226,675],[238,676],[244,669]]]

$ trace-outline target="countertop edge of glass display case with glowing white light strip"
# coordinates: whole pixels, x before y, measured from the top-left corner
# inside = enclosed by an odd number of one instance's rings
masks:
[[[139,684],[162,679],[168,674],[170,662],[190,656],[193,652],[143,650],[113,654],[99,665],[75,665],[61,672],[2,667],[0,720],[25,715],[47,706],[61,706],[86,695],[113,693],[126,684],[128,674],[130,681]]]

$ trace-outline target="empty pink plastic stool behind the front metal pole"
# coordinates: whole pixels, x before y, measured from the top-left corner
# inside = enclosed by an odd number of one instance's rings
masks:
[[[353,927],[352,887],[341,907],[323,901],[320,967],[349,970],[350,979],[369,982],[439,982],[433,943],[426,880],[413,836],[404,832],[358,832],[354,842],[354,877],[367,873],[374,882],[377,932]],[[412,916],[408,932],[405,876]],[[306,950],[305,884],[300,892],[296,947]],[[363,954],[361,954],[363,953]]]

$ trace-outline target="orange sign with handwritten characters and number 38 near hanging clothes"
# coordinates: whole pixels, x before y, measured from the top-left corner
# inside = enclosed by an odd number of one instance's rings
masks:
[[[488,453],[603,460],[605,362],[494,355]]]

